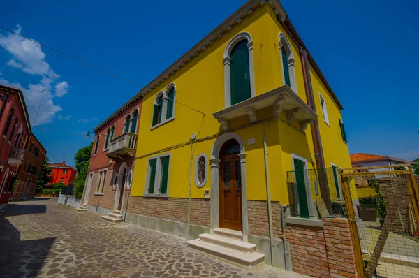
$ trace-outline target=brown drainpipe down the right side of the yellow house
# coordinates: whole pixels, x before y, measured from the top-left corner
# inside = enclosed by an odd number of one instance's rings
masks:
[[[313,88],[311,87],[309,59],[307,58],[307,50],[304,47],[300,47],[300,57],[302,64],[302,75],[304,77],[304,88],[307,96],[307,104],[314,112],[316,112],[316,105],[314,104]],[[321,198],[325,202],[326,208],[331,212],[330,207],[330,192],[328,186],[328,180],[325,177],[325,159],[323,156],[323,147],[321,144],[320,130],[318,129],[318,119],[314,119],[311,124],[311,137],[313,138],[314,153],[320,154],[317,165],[318,179],[320,182]],[[320,169],[319,169],[320,168]]]

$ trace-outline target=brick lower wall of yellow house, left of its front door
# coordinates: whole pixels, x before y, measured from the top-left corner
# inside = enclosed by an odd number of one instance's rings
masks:
[[[131,196],[128,213],[187,223],[187,198],[143,198]],[[191,224],[210,226],[210,200],[191,199]]]

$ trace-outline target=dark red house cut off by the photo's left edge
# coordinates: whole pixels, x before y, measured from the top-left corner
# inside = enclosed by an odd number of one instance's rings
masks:
[[[0,85],[0,208],[6,207],[24,159],[31,124],[22,91]]]

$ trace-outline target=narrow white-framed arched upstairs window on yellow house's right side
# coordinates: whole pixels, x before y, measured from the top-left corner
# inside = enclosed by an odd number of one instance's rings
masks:
[[[281,54],[281,66],[284,84],[288,85],[297,93],[297,83],[295,82],[294,55],[288,39],[284,33],[279,34],[279,50]]]

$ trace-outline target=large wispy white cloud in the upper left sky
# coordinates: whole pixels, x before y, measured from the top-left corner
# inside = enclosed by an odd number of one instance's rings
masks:
[[[17,25],[15,32],[20,34],[22,27]],[[0,34],[0,46],[12,55],[12,58],[7,62],[8,66],[20,68],[24,73],[41,76],[41,80],[37,84],[29,84],[27,88],[24,88],[20,83],[9,82],[4,78],[0,79],[0,83],[22,90],[31,124],[38,126],[52,122],[56,113],[62,110],[59,105],[54,104],[54,96],[61,97],[67,94],[68,82],[57,83],[59,75],[45,61],[45,53],[41,50],[41,45],[15,34],[8,34],[7,36]],[[39,93],[44,89],[45,92]],[[53,91],[55,91],[54,94]],[[41,108],[38,117],[36,117],[40,103]],[[36,123],[34,123],[35,118]]]

